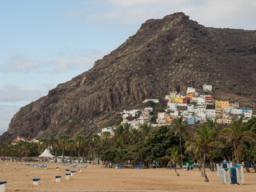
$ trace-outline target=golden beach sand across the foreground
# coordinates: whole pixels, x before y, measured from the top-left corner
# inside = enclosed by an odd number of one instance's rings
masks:
[[[22,162],[23,165],[26,162]],[[201,173],[161,169],[118,169],[102,168],[102,165],[89,166],[82,173],[66,180],[66,169],[78,170],[55,163],[46,163],[48,168],[20,166],[21,162],[0,162],[0,181],[7,181],[6,191],[256,191],[256,173],[245,173],[244,185],[224,185],[217,172],[206,171],[210,182],[204,182]],[[42,165],[42,164],[40,164]],[[59,167],[59,170],[56,170]],[[16,171],[15,171],[16,170]],[[61,182],[55,182],[55,176],[61,175]],[[32,179],[41,178],[39,186]]]

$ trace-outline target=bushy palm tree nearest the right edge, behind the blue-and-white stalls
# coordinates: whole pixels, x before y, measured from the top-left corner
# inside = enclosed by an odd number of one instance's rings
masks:
[[[255,141],[255,134],[253,129],[248,129],[246,125],[242,123],[244,116],[238,120],[232,120],[230,127],[222,130],[222,133],[226,135],[227,142],[233,142],[234,156],[236,162],[239,164],[242,156],[242,141]]]

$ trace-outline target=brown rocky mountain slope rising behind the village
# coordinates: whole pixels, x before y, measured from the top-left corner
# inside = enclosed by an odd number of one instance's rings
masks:
[[[256,103],[256,31],[207,28],[183,13],[150,19],[94,67],[22,107],[0,140],[92,134],[118,110],[207,83],[220,99]]]

